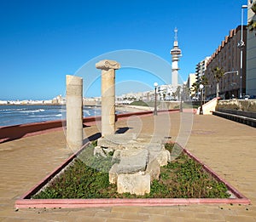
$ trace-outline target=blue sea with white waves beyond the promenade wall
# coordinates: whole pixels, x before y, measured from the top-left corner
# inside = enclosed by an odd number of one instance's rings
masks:
[[[100,115],[100,107],[84,106],[84,117]],[[65,118],[65,105],[0,105],[0,127]]]

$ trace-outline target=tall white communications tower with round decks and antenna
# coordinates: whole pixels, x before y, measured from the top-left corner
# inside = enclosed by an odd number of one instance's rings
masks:
[[[180,48],[178,48],[177,28],[174,29],[174,32],[175,32],[174,43],[173,43],[173,48],[170,51],[170,54],[172,54],[172,85],[177,86],[177,75],[179,70],[177,62],[179,61],[179,58],[182,56],[182,51]]]

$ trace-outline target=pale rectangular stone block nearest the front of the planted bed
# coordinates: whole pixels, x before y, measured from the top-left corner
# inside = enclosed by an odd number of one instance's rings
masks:
[[[144,195],[150,192],[150,175],[119,174],[117,188],[118,193]]]

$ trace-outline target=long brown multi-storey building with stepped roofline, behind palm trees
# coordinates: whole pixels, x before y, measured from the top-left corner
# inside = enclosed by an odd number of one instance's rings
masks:
[[[216,96],[217,82],[212,70],[216,67],[223,68],[225,73],[219,81],[219,96],[223,99],[239,98],[241,94],[246,93],[246,66],[247,66],[247,26],[242,26],[242,36],[245,47],[239,48],[241,42],[241,26],[230,30],[229,36],[224,37],[224,41],[218,46],[207,62],[207,77],[209,88],[207,88],[207,98]],[[242,69],[241,69],[241,50]],[[241,88],[241,90],[240,90]]]

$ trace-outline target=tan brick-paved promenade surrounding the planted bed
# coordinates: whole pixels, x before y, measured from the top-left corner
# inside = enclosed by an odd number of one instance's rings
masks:
[[[180,114],[172,113],[170,134],[177,138]],[[186,115],[186,114],[183,114]],[[119,120],[118,128],[153,134],[154,122],[164,123],[161,115]],[[135,122],[140,132],[132,127]],[[136,125],[136,124],[135,124]],[[96,126],[84,134],[98,133]],[[251,205],[203,204],[174,207],[113,207],[82,209],[19,209],[15,200],[61,164],[73,151],[66,148],[63,131],[50,132],[0,144],[0,221],[241,221],[256,222],[256,129],[215,117],[194,116],[186,148],[252,202]]]

